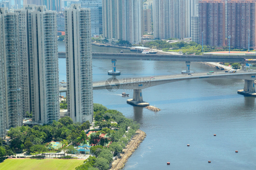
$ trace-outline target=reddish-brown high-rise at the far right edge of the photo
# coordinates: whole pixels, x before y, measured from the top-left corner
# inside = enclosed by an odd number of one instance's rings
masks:
[[[248,46],[255,46],[256,1],[232,0],[227,1],[226,5],[226,38],[230,36],[230,39],[227,39],[230,40],[230,46],[246,49]],[[229,45],[229,42],[227,44]]]

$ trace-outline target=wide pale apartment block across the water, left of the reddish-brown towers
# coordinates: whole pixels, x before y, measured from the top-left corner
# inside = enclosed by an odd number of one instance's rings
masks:
[[[186,38],[191,36],[191,16],[198,0],[154,0],[154,38]]]

